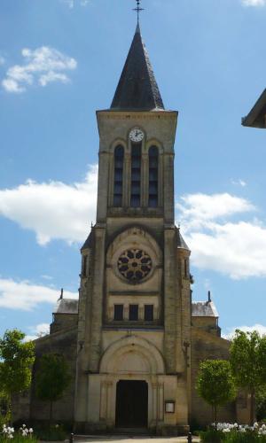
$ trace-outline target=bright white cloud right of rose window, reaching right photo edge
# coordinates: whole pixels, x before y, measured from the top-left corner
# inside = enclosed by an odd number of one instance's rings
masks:
[[[198,268],[233,279],[266,276],[266,228],[244,221],[214,223],[209,233],[193,231],[186,240]]]

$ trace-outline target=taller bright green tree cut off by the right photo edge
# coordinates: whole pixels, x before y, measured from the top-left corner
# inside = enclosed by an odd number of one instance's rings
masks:
[[[250,424],[255,419],[255,397],[266,386],[266,336],[236,330],[231,342],[231,368],[239,387],[250,395]]]

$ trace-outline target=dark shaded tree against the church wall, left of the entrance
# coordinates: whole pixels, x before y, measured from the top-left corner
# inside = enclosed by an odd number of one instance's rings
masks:
[[[50,425],[53,403],[62,397],[70,380],[68,364],[62,355],[42,355],[39,368],[36,371],[35,393],[38,399],[50,401]]]

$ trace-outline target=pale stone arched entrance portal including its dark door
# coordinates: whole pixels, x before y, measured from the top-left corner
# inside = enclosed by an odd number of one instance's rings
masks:
[[[101,419],[110,427],[151,427],[163,416],[165,364],[156,346],[128,335],[100,361]]]

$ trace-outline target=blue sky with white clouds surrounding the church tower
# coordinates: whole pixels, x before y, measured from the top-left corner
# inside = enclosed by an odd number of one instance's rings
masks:
[[[143,0],[160,92],[179,111],[176,223],[194,299],[224,334],[266,332],[266,131],[241,127],[266,87],[264,0]],[[79,287],[95,217],[98,130],[129,51],[133,0],[1,0],[0,334],[47,330]]]

